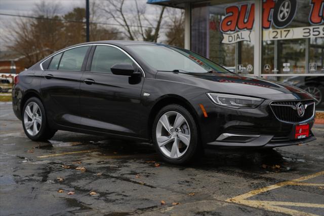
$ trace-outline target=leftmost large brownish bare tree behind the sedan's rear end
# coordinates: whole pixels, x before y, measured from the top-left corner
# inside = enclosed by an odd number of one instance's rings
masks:
[[[58,16],[59,6],[41,2],[35,5],[38,19],[18,18],[9,24],[5,37],[9,50],[15,51],[27,59],[26,67],[60,49],[62,21]]]

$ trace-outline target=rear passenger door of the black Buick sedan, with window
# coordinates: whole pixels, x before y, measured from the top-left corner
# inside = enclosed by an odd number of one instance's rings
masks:
[[[76,126],[80,123],[79,90],[89,47],[81,46],[58,53],[44,68],[41,94],[47,116],[57,124]]]

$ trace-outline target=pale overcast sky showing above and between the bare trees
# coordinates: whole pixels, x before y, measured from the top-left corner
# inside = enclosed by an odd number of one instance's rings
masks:
[[[32,10],[34,8],[34,5],[37,3],[41,3],[44,0],[0,0],[0,13],[4,14],[15,14],[15,15],[33,15]],[[69,11],[71,11],[75,7],[86,7],[86,0],[45,0],[45,1],[51,1],[56,2],[61,5],[61,11],[60,14],[63,15]],[[92,1],[99,1],[102,0],[90,0]],[[115,0],[119,1],[119,0]],[[145,4],[146,0],[138,0],[139,4]],[[134,6],[134,0],[126,0],[125,3],[125,9],[132,9]],[[147,5],[146,6],[146,15],[148,17],[155,17],[156,16],[156,10],[154,6]],[[3,41],[3,37],[5,34],[8,33],[7,28],[9,26],[9,23],[11,23],[13,20],[15,20],[15,17],[10,16],[4,16],[0,15],[0,50],[5,50],[5,43]],[[105,22],[105,20],[100,20],[101,22]],[[110,23],[112,23],[112,20],[109,20]],[[161,35],[161,38],[163,35]],[[160,39],[161,39],[160,38]]]

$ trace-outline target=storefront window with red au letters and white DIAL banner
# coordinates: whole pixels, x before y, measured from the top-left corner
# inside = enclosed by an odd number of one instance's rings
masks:
[[[235,73],[253,74],[254,1],[226,3],[192,5],[191,50]]]

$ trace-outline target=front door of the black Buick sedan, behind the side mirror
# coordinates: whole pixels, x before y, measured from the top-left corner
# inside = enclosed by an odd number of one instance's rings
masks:
[[[138,136],[143,129],[140,119],[141,76],[113,75],[110,67],[131,63],[141,70],[123,50],[112,45],[93,48],[80,85],[82,124],[86,129],[127,136]]]

